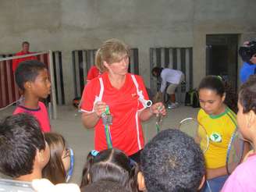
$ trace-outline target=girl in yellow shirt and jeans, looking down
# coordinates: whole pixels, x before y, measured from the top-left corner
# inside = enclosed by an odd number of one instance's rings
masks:
[[[228,177],[226,151],[236,129],[236,114],[229,108],[234,105],[226,105],[226,98],[231,104],[236,104],[237,98],[227,95],[230,93],[226,91],[219,76],[205,76],[199,84],[198,93],[201,109],[197,120],[204,126],[210,138],[208,151],[204,154],[208,187],[204,187],[203,191],[219,191]]]

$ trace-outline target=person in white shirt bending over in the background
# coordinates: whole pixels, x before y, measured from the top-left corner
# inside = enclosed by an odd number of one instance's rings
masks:
[[[158,94],[163,95],[165,92],[169,94],[170,104],[168,105],[168,108],[178,107],[178,103],[175,98],[175,90],[176,87],[178,87],[184,80],[184,74],[180,70],[161,67],[154,67],[151,73],[155,77],[161,77],[162,83]]]

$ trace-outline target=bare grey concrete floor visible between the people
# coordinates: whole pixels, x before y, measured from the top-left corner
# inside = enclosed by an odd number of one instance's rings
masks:
[[[199,108],[180,106],[168,110],[168,115],[163,119],[162,130],[175,128],[180,120],[187,117],[196,117]],[[0,111],[0,118],[12,114],[14,107]],[[73,106],[59,106],[58,118],[51,120],[52,130],[61,133],[65,137],[69,147],[75,154],[75,169],[71,182],[80,184],[80,177],[84,167],[86,156],[94,148],[94,130],[86,130],[81,123],[80,113]],[[155,136],[155,117],[143,123],[144,137],[147,142]]]

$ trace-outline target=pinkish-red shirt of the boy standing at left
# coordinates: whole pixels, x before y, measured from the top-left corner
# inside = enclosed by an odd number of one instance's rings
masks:
[[[35,116],[39,121],[39,123],[41,124],[41,130],[44,133],[51,131],[48,112],[43,102],[39,101],[38,108],[36,109],[26,108],[22,105],[18,105],[12,114],[15,115],[22,112],[26,112],[31,114],[32,116]]]

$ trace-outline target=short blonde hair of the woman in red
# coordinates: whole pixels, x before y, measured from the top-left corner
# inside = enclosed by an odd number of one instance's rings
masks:
[[[129,46],[118,39],[109,39],[96,52],[95,65],[103,73],[107,70],[103,65],[104,61],[112,64],[113,62],[119,62],[125,55],[130,56]]]

